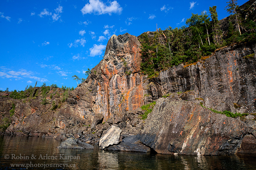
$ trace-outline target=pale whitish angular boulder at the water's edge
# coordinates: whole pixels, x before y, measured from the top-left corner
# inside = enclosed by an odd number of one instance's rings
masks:
[[[117,144],[119,142],[120,133],[122,130],[112,125],[108,131],[100,138],[99,147],[104,149],[110,145]]]

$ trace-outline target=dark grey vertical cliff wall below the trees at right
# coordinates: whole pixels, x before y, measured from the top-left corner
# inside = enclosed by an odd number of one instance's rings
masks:
[[[220,111],[255,112],[256,47],[233,45],[187,66],[179,65],[149,83],[152,98],[168,93],[195,90],[205,107]]]

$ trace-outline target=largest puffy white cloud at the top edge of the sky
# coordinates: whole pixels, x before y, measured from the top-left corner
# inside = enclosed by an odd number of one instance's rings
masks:
[[[121,14],[123,8],[120,7],[119,3],[117,1],[109,2],[110,5],[104,4],[100,0],[89,0],[89,3],[87,3],[81,10],[82,14],[109,14],[117,13]]]

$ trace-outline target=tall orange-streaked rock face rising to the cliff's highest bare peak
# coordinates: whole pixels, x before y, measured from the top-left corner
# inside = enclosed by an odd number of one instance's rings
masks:
[[[86,82],[76,89],[79,93],[86,88],[91,94],[89,104],[84,103],[84,96],[77,103],[85,106],[83,113],[88,114],[84,116],[102,113],[106,121],[113,118],[115,112],[132,111],[144,103],[140,45],[138,38],[128,33],[110,38],[103,60],[91,70]]]

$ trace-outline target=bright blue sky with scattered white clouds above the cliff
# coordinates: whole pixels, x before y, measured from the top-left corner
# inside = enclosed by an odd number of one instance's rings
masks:
[[[222,0],[1,0],[0,90],[24,90],[36,81],[75,88],[72,76],[87,77],[113,34],[182,27],[191,13],[214,5],[219,19],[229,15]]]

